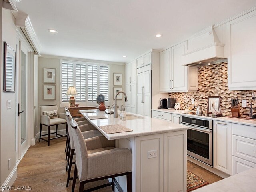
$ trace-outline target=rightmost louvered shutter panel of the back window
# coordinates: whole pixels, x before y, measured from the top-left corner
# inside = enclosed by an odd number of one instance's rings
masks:
[[[105,96],[105,101],[108,101],[108,66],[100,66],[100,94]]]

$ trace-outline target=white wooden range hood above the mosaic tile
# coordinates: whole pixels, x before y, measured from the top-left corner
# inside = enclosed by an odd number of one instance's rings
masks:
[[[224,62],[224,46],[210,26],[188,40],[188,49],[182,55],[182,64],[204,66]]]

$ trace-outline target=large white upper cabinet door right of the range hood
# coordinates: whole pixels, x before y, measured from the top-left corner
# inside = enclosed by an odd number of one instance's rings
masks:
[[[256,11],[228,22],[228,88],[256,89]]]

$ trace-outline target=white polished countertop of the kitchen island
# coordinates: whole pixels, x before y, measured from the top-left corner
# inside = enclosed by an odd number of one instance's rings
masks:
[[[167,120],[162,120],[158,118],[150,118],[147,116],[141,116],[138,114],[132,114],[127,112],[127,116],[131,115],[137,117],[136,119],[130,120],[120,120],[119,116],[114,118],[114,114],[106,114],[104,111],[99,110],[86,110],[94,111],[93,113],[83,113],[84,110],[79,110],[79,112],[90,122],[92,123],[108,140],[121,139],[121,138],[130,138],[136,136],[145,136],[152,134],[160,134],[165,132],[175,132],[189,129],[188,126],[181,124],[174,124]],[[91,120],[88,116],[102,115],[107,117],[106,119],[93,119]],[[114,134],[106,134],[99,126],[104,125],[116,125],[120,124],[126,128],[131,129],[130,132],[121,132]]]

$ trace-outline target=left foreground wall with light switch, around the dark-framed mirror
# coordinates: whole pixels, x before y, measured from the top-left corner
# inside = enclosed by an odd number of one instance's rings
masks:
[[[1,1],[2,2],[2,1]],[[16,49],[16,26],[14,16],[10,10],[2,9],[2,48],[6,41],[14,50]],[[3,61],[3,50],[0,50]],[[1,62],[1,70],[3,62]],[[15,130],[16,130],[16,94],[4,93],[3,71],[1,72],[1,184],[4,183],[15,167]],[[12,108],[6,109],[6,101],[12,100]],[[8,159],[11,158],[11,168],[8,170]]]

